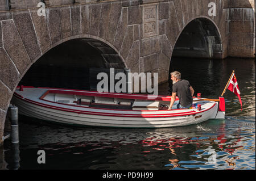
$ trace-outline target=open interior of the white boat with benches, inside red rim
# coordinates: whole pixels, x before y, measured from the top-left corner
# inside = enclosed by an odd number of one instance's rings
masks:
[[[123,95],[123,98],[122,96],[117,98],[114,94],[108,94],[108,97],[106,97],[106,94],[100,95],[93,92],[88,95],[79,95],[77,92],[63,93],[48,90],[40,99],[72,106],[108,108],[114,110],[167,110],[170,106],[170,101],[148,99],[146,95],[140,97],[140,99],[133,99],[129,98],[129,95]]]

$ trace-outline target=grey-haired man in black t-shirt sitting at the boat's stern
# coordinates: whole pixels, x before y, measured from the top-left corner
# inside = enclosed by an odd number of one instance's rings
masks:
[[[173,84],[172,98],[168,110],[172,109],[176,96],[178,96],[179,98],[179,103],[177,104],[177,107],[175,107],[175,109],[188,109],[192,106],[193,102],[193,94],[195,92],[193,90],[193,87],[189,84],[187,80],[181,79],[181,74],[179,71],[172,72],[171,79]]]

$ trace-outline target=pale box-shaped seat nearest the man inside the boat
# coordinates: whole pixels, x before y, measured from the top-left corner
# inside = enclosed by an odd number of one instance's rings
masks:
[[[159,102],[154,101],[135,101],[133,110],[159,110]]]

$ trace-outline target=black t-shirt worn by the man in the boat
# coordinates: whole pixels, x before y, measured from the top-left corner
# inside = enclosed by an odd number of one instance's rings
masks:
[[[180,105],[183,107],[187,107],[193,102],[191,91],[189,89],[190,86],[189,82],[185,79],[177,81],[172,86],[172,92],[177,92],[177,96],[180,99]]]

